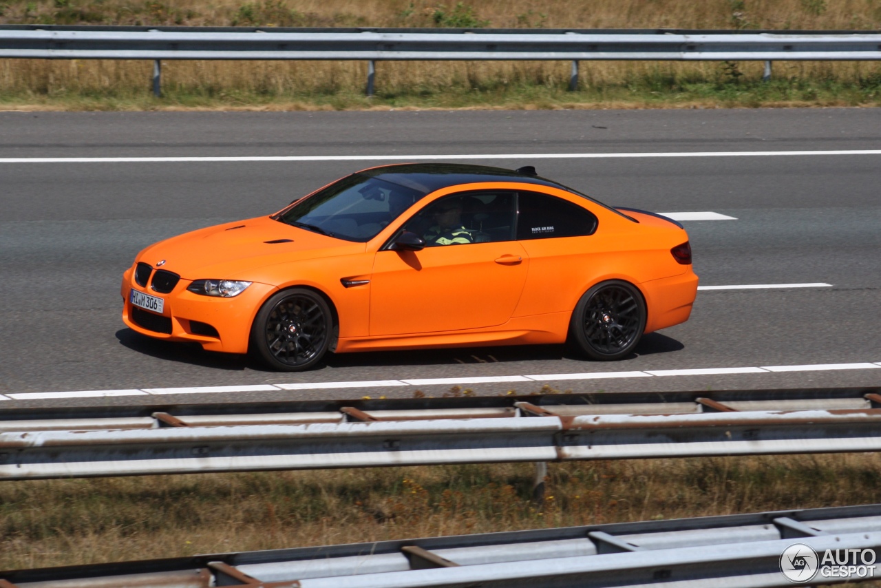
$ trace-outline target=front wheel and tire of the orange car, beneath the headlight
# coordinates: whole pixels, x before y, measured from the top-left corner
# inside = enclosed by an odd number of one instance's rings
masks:
[[[327,301],[306,288],[273,295],[251,325],[252,352],[279,371],[303,371],[322,361],[333,328]]]

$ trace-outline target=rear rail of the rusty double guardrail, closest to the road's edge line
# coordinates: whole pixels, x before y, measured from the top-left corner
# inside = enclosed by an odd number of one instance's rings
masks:
[[[151,397],[147,397],[151,398]],[[45,404],[46,401],[38,401]],[[102,402],[99,400],[99,402]],[[256,425],[374,420],[514,417],[517,403],[562,416],[583,414],[691,414],[737,411],[858,410],[881,408],[881,386],[661,392],[586,392],[471,396],[451,391],[441,398],[352,398],[235,403],[48,406],[0,404],[0,432],[95,428],[157,428],[182,425]],[[723,406],[720,406],[723,405]],[[174,416],[169,421],[163,414]]]

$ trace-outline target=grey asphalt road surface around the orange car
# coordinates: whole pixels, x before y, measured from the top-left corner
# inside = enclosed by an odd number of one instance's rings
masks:
[[[473,153],[682,153],[881,148],[881,110],[362,113],[0,113],[7,158]],[[0,394],[321,383],[881,361],[881,155],[481,160],[536,165],[611,205],[713,211],[686,222],[701,285],[831,288],[702,291],[691,320],[648,335],[625,361],[561,346],[332,356],[304,374],[145,339],[124,328],[119,282],[139,249],[196,227],[269,213],[370,161],[0,161]],[[654,391],[881,385],[881,369],[549,382]],[[476,393],[541,383],[469,385]],[[164,396],[409,397],[370,390]],[[440,395],[449,386],[420,386]],[[143,403],[82,398],[70,405]],[[11,400],[3,406],[49,401]],[[50,401],[57,405],[59,400]]]

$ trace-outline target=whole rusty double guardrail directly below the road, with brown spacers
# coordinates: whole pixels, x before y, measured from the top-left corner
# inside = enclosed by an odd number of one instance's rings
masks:
[[[0,480],[877,451],[877,391],[435,398],[337,412],[282,412],[332,404],[320,402],[258,413],[189,406],[137,416],[155,408],[141,407],[98,421],[3,411],[0,419],[19,418],[0,421]]]

